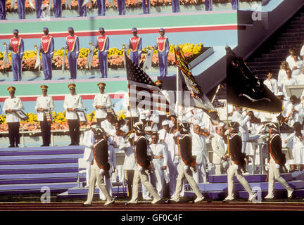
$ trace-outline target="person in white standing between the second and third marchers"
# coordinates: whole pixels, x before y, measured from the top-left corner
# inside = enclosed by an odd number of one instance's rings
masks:
[[[158,143],[158,133],[151,134],[152,166],[153,174],[151,174],[151,184],[156,188],[160,198],[163,198],[165,185],[165,170],[167,169],[167,146]]]

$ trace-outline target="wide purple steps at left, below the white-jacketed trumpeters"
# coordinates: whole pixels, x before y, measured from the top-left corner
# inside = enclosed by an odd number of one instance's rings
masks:
[[[77,186],[84,146],[0,148],[0,195],[62,193]],[[84,181],[80,177],[80,181]]]

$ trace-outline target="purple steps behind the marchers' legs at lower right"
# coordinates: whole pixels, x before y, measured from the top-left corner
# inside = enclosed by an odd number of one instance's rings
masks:
[[[250,174],[244,175],[248,184],[251,186],[253,191],[257,191],[257,195],[260,198],[265,198],[268,193],[268,182],[266,181],[265,174]],[[291,188],[295,189],[296,197],[304,197],[304,181],[300,179],[294,179],[292,174],[281,174],[281,176],[287,181]],[[302,178],[301,178],[302,179]],[[198,188],[203,193],[205,198],[213,200],[223,200],[228,195],[228,184],[227,184],[227,174],[226,175],[210,175],[209,183],[200,183]],[[186,190],[184,195],[187,197],[194,197],[195,194],[191,190],[189,184],[186,184]],[[234,196],[235,198],[245,198],[248,199],[248,192],[243,188],[234,176]],[[287,198],[286,189],[279,184],[279,182],[274,181],[274,198]]]

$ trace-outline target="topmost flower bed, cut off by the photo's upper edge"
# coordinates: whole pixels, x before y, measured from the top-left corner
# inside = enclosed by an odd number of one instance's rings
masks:
[[[240,0],[241,2],[260,2],[260,0]],[[43,5],[46,6],[49,4],[49,0],[42,1]],[[126,8],[141,8],[141,2],[139,0],[126,0],[125,1],[125,7]],[[184,6],[190,6],[190,5],[201,5],[204,4],[205,0],[179,0],[179,4]],[[231,0],[213,0],[213,4],[228,4],[231,3]],[[34,1],[33,1],[34,4]],[[66,6],[66,0],[62,1],[63,10],[68,9]],[[90,4],[87,4],[89,8],[97,8],[96,0],[91,0]],[[151,6],[171,6],[171,0],[151,0]],[[77,11],[78,10],[78,1],[77,0],[71,0],[71,8],[72,10]],[[110,3],[110,1],[106,0],[106,8],[117,8],[117,1],[113,0],[113,5]],[[7,12],[17,12],[17,1],[15,1],[15,7],[11,9],[11,0],[6,1],[6,11]],[[34,11],[33,8],[31,8],[30,3],[28,0],[25,1],[25,11]]]

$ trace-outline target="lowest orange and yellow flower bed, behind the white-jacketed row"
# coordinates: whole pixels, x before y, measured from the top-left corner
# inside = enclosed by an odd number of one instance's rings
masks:
[[[20,122],[20,131],[40,131],[40,124],[37,121],[37,114],[27,113],[28,119]],[[65,111],[62,113],[53,112],[53,122],[51,130],[65,130],[68,129],[68,120],[65,119]],[[117,120],[125,120],[125,111],[120,110],[116,113]],[[80,129],[87,129],[92,122],[96,122],[95,111],[87,114],[87,122],[80,122]],[[8,131],[8,124],[6,123],[6,115],[0,115],[0,132]]]

